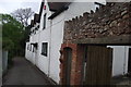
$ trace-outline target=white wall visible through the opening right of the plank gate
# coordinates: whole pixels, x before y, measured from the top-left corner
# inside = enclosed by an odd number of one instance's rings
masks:
[[[112,76],[128,73],[129,46],[109,46],[112,48]]]

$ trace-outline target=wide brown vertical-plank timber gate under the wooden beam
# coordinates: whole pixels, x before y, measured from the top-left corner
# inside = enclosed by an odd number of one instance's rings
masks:
[[[109,85],[112,69],[112,49],[87,46],[85,85]]]

